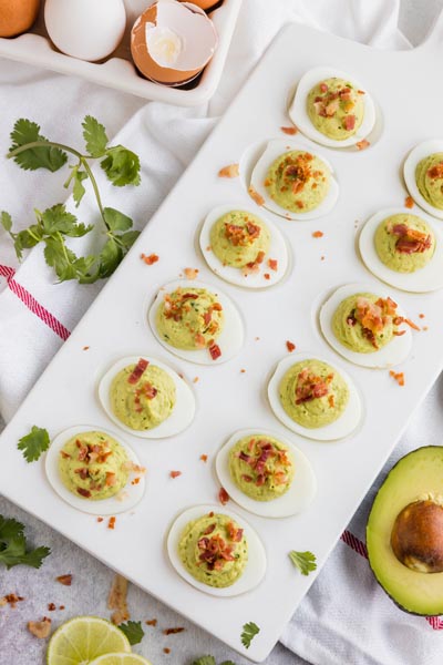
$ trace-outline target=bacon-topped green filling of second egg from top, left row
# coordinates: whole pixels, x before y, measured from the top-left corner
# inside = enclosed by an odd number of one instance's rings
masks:
[[[270,165],[265,187],[280,207],[292,213],[309,213],[324,201],[331,172],[311,153],[287,152]]]

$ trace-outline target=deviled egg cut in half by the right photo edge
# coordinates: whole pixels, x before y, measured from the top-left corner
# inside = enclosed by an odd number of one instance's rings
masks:
[[[403,175],[415,203],[443,219],[443,140],[419,143],[404,162]]]

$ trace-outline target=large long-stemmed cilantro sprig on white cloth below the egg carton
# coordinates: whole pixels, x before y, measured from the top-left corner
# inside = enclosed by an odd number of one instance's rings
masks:
[[[37,123],[20,119],[11,133],[12,144],[7,157],[12,158],[24,171],[45,168],[54,173],[66,164],[68,153],[73,155],[75,161],[69,165],[71,172],[64,187],[72,187],[75,207],[79,207],[86,192],[84,181],[90,181],[106,234],[101,250],[79,257],[66,245],[66,238],[84,236],[93,226],[79,222],[63,204],[43,212],[35,209],[35,223],[19,233],[12,231],[12,218],[4,211],[0,213],[0,224],[12,238],[19,259],[22,258],[23,249],[43,243],[47,264],[54,269],[60,282],[76,279],[80,284],[92,284],[112,275],[134,244],[138,232],[132,228],[131,217],[103,205],[90,161],[100,160],[107,180],[115,187],[123,187],[140,185],[140,158],[123,145],[109,145],[106,131],[95,117],[86,115],[82,127],[86,154],[69,145],[49,141],[40,133]]]

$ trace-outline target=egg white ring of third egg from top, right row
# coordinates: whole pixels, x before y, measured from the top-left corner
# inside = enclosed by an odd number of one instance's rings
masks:
[[[354,365],[361,365],[362,367],[371,368],[385,368],[399,365],[409,356],[412,348],[412,332],[408,324],[402,325],[402,330],[405,334],[400,337],[393,337],[389,344],[381,349],[373,351],[372,354],[358,354],[351,351],[346,346],[340,344],[332,330],[332,317],[342,300],[354,294],[370,293],[380,295],[382,298],[390,296],[387,291],[387,287],[382,285],[370,285],[370,284],[347,284],[340,286],[322,305],[320,309],[320,328],[324,336],[324,339],[333,348],[334,351],[343,356],[350,362]],[[396,303],[396,298],[392,298]],[[405,316],[403,309],[399,306],[396,308],[398,316]]]

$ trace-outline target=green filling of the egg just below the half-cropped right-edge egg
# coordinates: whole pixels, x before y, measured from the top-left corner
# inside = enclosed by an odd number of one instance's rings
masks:
[[[424,219],[399,214],[380,223],[374,235],[380,260],[396,273],[415,273],[424,268],[435,252],[435,237]]]

